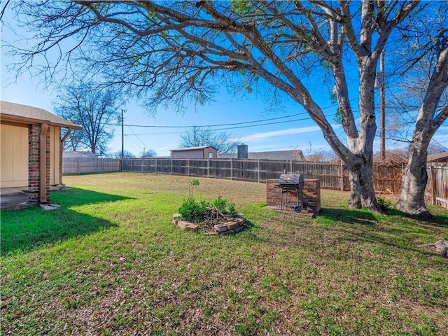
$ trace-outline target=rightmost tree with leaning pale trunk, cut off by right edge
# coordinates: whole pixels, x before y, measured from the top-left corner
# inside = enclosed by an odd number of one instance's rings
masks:
[[[429,216],[424,200],[428,150],[433,134],[448,118],[448,7],[420,13],[408,25],[397,41],[406,49],[392,54],[400,90],[391,90],[395,113],[389,125],[395,128],[392,137],[409,144],[397,208]]]

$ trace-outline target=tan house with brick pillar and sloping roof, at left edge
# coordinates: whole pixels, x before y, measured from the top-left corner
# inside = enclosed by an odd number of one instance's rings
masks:
[[[81,127],[32,106],[0,102],[1,188],[27,188],[30,204],[49,201],[62,182],[61,128]]]

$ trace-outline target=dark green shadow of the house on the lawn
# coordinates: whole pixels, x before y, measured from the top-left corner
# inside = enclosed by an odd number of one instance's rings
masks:
[[[52,211],[45,211],[40,207],[1,210],[1,255],[18,250],[31,251],[43,244],[116,227],[116,224],[102,218],[82,214],[70,208],[117,202],[127,200],[129,197],[70,188],[51,193],[50,199],[61,208]]]

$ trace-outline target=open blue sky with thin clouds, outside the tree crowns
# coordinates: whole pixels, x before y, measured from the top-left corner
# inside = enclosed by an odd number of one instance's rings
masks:
[[[7,24],[2,29],[2,40],[9,43],[20,43],[18,37],[10,30],[14,21],[8,10],[3,20]],[[14,29],[18,31],[17,27],[14,27]],[[6,55],[6,48],[1,48],[1,100],[52,111],[51,102],[59,92],[53,90],[52,87],[44,87],[40,83],[41,78],[30,78],[29,74],[15,78],[15,73],[8,71],[7,68],[11,62],[14,62],[14,59],[9,59]],[[219,83],[216,85],[219,85]],[[355,90],[353,92],[357,90],[356,87],[352,89]],[[239,128],[219,126],[212,127],[212,129],[225,130],[234,139],[247,144],[250,152],[281,151],[293,148],[309,150],[310,146],[314,151],[321,148],[330,149],[316,123],[304,113],[302,106],[288,98],[283,102],[284,111],[276,113],[269,111],[265,99],[256,97],[255,94],[248,94],[241,100],[239,97],[222,93],[218,94],[215,99],[216,102],[211,104],[196,106],[196,108],[192,106],[183,114],[179,114],[174,109],[159,109],[154,116],[144,112],[144,108],[139,106],[137,102],[130,102],[130,104],[123,106],[127,111],[125,113],[125,125],[186,127],[189,125],[221,125],[266,120],[260,123],[235,125]],[[326,106],[325,115],[335,113],[336,107],[332,106],[328,91],[322,90],[315,99],[321,106]],[[353,106],[356,106],[356,102],[353,102]],[[273,118],[279,119],[267,120]],[[332,117],[329,120],[330,123],[335,124]],[[338,125],[334,125],[334,127],[335,132],[344,139],[342,129]],[[139,155],[144,151],[144,148],[151,148],[160,156],[169,155],[170,149],[179,147],[180,135],[185,130],[185,128],[125,126],[125,150],[134,153],[134,155]],[[447,133],[448,126],[442,125],[434,139],[448,147]],[[121,127],[117,125],[113,140],[109,144],[109,152],[120,151],[120,148]],[[375,141],[374,150],[379,151],[379,139]]]

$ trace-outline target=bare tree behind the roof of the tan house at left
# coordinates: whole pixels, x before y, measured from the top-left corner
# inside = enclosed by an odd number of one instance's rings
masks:
[[[58,116],[80,125],[82,130],[73,132],[68,142],[73,151],[78,146],[92,153],[105,153],[113,137],[113,123],[118,113],[118,96],[112,90],[95,90],[92,85],[80,83],[67,86],[53,103]]]

